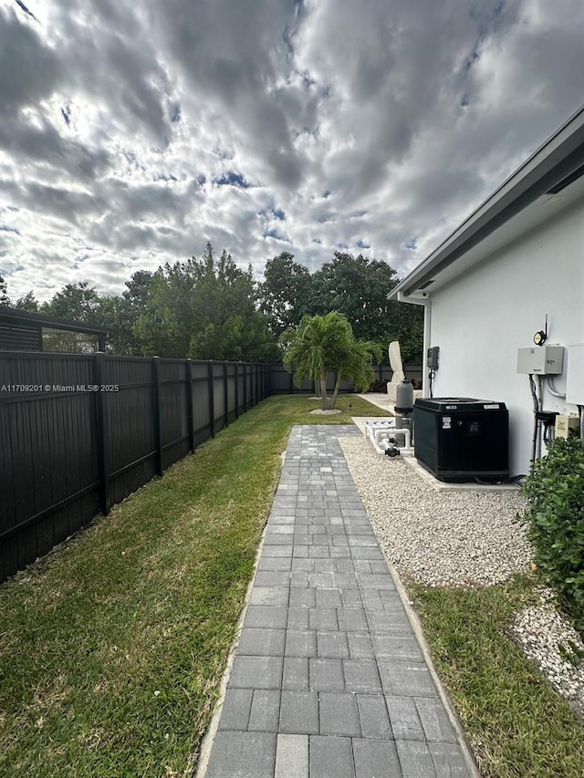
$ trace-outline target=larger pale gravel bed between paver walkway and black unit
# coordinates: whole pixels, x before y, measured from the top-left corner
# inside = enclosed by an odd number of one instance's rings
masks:
[[[428,586],[491,586],[529,568],[531,547],[513,521],[517,492],[436,492],[405,462],[361,438],[340,446],[381,547],[399,572]]]

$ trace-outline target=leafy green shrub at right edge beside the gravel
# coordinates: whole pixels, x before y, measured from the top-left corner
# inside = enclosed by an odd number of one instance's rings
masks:
[[[524,492],[527,524],[540,574],[584,635],[584,449],[578,438],[556,438],[533,462]]]

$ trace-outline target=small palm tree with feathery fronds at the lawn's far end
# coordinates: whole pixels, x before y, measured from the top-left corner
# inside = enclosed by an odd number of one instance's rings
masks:
[[[381,349],[370,341],[355,340],[346,316],[332,311],[325,316],[304,316],[298,327],[287,329],[280,338],[285,349],[284,367],[295,373],[294,383],[305,378],[318,383],[322,410],[335,407],[342,379],[352,378],[358,389],[367,389],[374,378],[371,362]],[[332,399],[327,398],[327,373],[337,372]]]

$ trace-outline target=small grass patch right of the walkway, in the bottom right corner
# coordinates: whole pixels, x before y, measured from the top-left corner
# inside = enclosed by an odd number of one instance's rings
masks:
[[[582,778],[582,725],[506,635],[514,614],[536,604],[535,578],[477,589],[406,583],[481,774]]]

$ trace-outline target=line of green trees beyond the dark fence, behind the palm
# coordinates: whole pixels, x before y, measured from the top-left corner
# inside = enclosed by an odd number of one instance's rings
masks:
[[[381,344],[399,340],[404,361],[422,357],[422,309],[389,301],[396,273],[376,259],[335,252],[315,273],[283,252],[266,263],[264,280],[251,265],[207,244],[194,257],[154,272],[139,270],[121,296],[99,295],[88,282],[67,284],[47,303],[31,291],[12,303],[0,277],[0,303],[31,313],[107,327],[108,348],[129,356],[279,361],[278,340],[304,316],[338,311],[354,336]],[[81,350],[83,337],[49,336],[55,350]],[[386,351],[385,351],[386,353]]]

